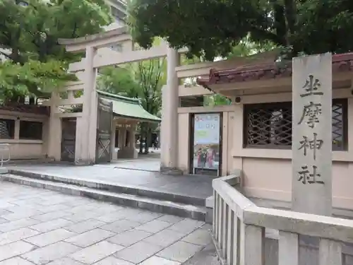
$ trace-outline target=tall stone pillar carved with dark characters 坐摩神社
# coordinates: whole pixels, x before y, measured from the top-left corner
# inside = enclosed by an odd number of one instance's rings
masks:
[[[332,55],[292,62],[292,209],[332,211]]]

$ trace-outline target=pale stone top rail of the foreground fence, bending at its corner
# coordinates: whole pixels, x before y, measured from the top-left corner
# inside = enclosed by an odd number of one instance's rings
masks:
[[[287,232],[305,233],[331,240],[353,242],[353,220],[310,213],[256,206],[227,182],[239,176],[213,179],[213,189],[222,195],[229,208],[247,225],[258,225]]]

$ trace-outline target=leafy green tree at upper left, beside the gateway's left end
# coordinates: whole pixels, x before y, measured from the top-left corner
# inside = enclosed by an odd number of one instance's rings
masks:
[[[0,0],[0,94],[9,100],[43,95],[75,77],[59,38],[99,33],[112,18],[104,0]]]

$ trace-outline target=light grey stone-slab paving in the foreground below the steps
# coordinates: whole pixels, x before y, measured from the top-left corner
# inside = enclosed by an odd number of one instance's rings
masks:
[[[0,265],[218,264],[210,225],[0,182]]]

